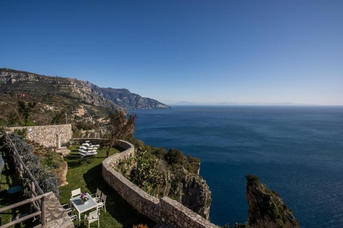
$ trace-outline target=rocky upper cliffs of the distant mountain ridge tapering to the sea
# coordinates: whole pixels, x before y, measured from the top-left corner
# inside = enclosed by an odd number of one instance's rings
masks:
[[[53,93],[112,109],[170,108],[126,89],[100,88],[88,81],[0,68],[0,92]]]

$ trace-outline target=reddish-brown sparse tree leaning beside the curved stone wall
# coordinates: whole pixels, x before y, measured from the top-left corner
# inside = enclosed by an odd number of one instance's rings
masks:
[[[109,151],[111,147],[116,146],[120,139],[125,139],[132,136],[134,130],[136,129],[135,120],[137,115],[127,116],[121,110],[116,110],[116,112],[110,115],[110,120],[108,124],[108,149],[106,152],[106,158],[109,156]]]

